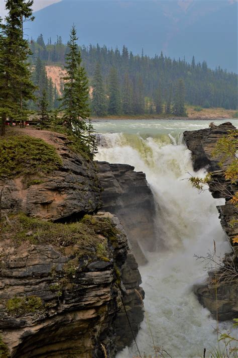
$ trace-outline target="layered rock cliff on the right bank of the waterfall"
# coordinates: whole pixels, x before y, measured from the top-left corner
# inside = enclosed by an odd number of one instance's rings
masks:
[[[209,184],[209,190],[214,198],[224,198],[225,205],[218,206],[221,226],[226,234],[231,247],[230,252],[224,257],[224,267],[231,268],[237,272],[238,267],[238,245],[232,242],[232,239],[238,235],[237,226],[230,226],[231,220],[238,216],[237,208],[231,204],[230,195],[237,192],[237,183],[231,183],[224,178],[224,171],[229,162],[226,162],[221,168],[218,165],[220,157],[213,157],[217,141],[227,134],[228,130],[234,130],[231,123],[223,123],[219,126],[198,131],[184,132],[185,142],[188,149],[192,152],[193,166],[195,170],[206,168],[211,171],[212,181]],[[195,285],[194,291],[200,303],[209,309],[212,316],[216,318],[216,310],[219,320],[229,320],[237,318],[238,314],[238,276],[234,273],[224,273],[224,270],[209,273],[206,283]],[[214,280],[215,279],[215,280]],[[215,284],[216,281],[216,284]]]

